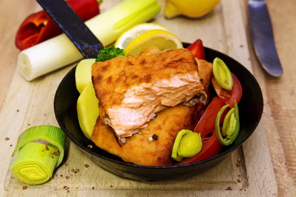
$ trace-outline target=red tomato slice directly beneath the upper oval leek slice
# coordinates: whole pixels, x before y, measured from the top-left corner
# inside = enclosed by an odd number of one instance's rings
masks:
[[[231,73],[231,75],[233,78],[233,86],[231,91],[228,91],[222,88],[214,76],[211,79],[217,95],[219,96],[220,99],[224,101],[225,104],[230,104],[229,106],[230,108],[234,106],[233,104],[234,100],[236,100],[237,103],[240,101],[243,94],[242,85],[240,84],[239,80],[233,73]]]

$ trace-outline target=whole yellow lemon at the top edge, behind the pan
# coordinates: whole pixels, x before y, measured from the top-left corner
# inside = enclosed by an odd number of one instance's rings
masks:
[[[173,18],[184,15],[198,18],[212,11],[221,0],[166,0],[164,16]]]

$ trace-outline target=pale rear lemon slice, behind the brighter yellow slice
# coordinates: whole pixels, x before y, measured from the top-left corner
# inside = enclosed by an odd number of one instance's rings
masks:
[[[139,35],[149,31],[149,30],[166,30],[165,27],[158,25],[156,23],[141,23],[139,25],[134,26],[133,28],[121,33],[121,35],[117,38],[114,46],[120,49],[124,49],[127,45],[133,41]]]

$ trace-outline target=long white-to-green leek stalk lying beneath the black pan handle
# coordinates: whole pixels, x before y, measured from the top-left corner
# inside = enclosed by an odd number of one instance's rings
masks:
[[[124,0],[85,24],[107,46],[124,31],[153,19],[160,10],[157,0]],[[82,55],[74,44],[61,34],[22,51],[17,66],[23,77],[31,81],[80,59]]]

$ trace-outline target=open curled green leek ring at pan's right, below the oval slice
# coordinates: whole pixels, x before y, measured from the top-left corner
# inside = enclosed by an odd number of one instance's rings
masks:
[[[226,114],[225,119],[223,121],[222,135],[225,138],[222,137],[221,131],[220,131],[220,119],[221,119],[222,113],[228,106],[229,104],[224,105],[220,109],[216,117],[216,123],[215,123],[215,130],[216,130],[218,140],[223,146],[228,146],[232,144],[233,141],[236,139],[240,129],[238,106],[237,106],[236,100],[234,100],[234,108],[229,110],[229,112]]]

